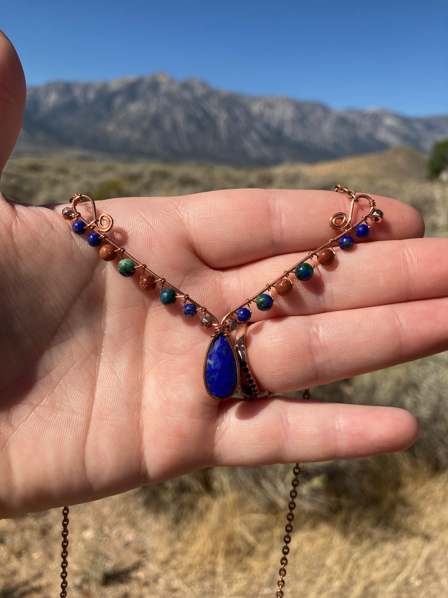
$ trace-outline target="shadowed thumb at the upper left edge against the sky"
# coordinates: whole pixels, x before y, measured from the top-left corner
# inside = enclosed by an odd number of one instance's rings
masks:
[[[0,175],[19,136],[26,83],[19,56],[0,30]]]

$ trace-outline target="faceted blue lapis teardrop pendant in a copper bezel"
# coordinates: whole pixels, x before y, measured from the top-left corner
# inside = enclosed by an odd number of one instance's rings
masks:
[[[235,349],[226,334],[220,332],[208,345],[204,361],[204,383],[209,395],[228,399],[237,392],[240,371]]]

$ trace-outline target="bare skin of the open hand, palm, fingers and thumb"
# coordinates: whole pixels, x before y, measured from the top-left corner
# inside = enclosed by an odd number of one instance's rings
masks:
[[[1,35],[0,170],[24,100],[20,61]],[[261,388],[309,388],[448,348],[447,240],[422,239],[414,209],[375,199],[385,220],[365,242],[294,282],[270,312],[254,310],[247,350]],[[131,254],[221,318],[326,242],[329,216],[348,205],[326,191],[250,189],[97,209]],[[179,301],[165,307],[137,276],[119,276],[60,212],[0,197],[0,516],[206,466],[361,457],[415,441],[415,418],[398,408],[211,398],[210,333]]]

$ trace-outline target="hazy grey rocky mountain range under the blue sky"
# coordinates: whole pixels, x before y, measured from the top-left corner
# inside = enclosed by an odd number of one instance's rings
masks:
[[[94,154],[241,165],[315,162],[448,137],[448,115],[332,111],[287,97],[251,97],[165,74],[109,83],[55,81],[28,90],[16,154]]]

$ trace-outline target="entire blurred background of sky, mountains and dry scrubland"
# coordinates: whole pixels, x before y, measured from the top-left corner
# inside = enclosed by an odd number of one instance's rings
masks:
[[[339,182],[448,236],[442,2],[18,4],[0,23],[29,85],[10,199]],[[303,466],[285,598],[448,596],[448,352],[312,398],[404,407],[420,434],[404,453]],[[291,479],[209,468],[70,508],[70,598],[274,596]],[[0,520],[0,598],[59,595],[61,519]]]

